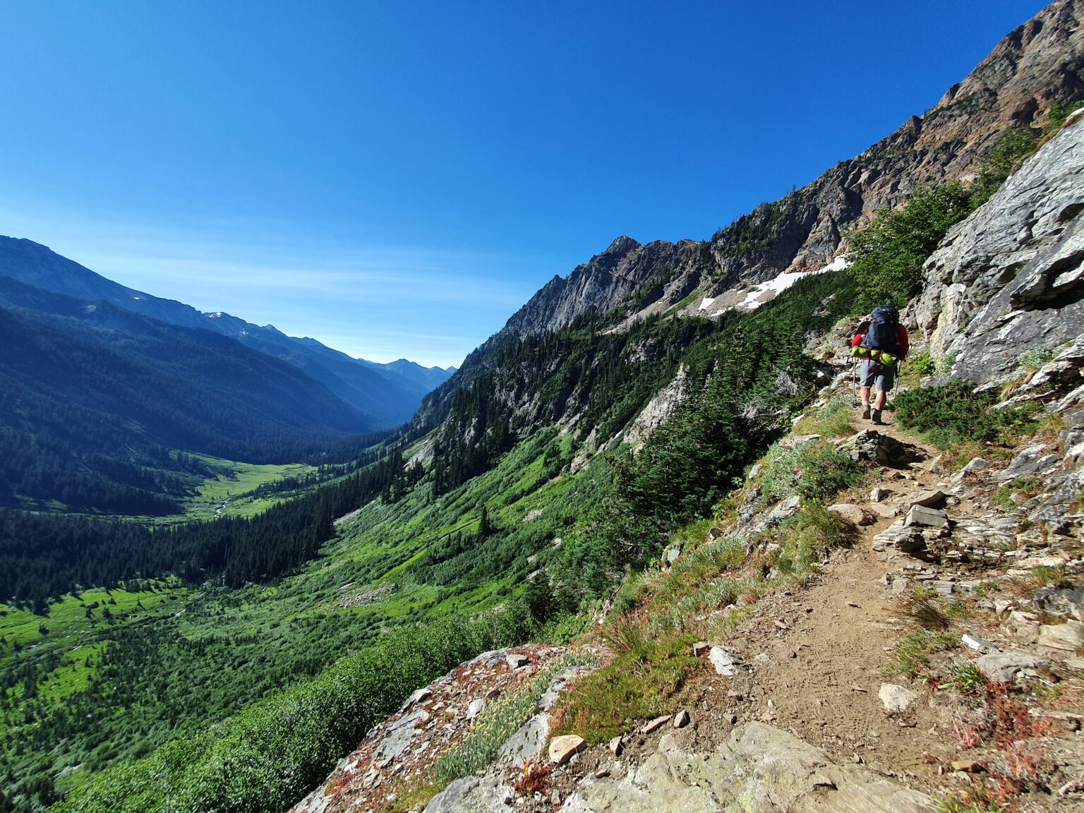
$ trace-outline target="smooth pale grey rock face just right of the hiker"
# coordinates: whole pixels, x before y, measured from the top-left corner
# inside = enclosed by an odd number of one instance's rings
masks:
[[[915,321],[930,354],[988,387],[1020,357],[1053,357],[1084,332],[1084,127],[1044,145],[927,261]]]

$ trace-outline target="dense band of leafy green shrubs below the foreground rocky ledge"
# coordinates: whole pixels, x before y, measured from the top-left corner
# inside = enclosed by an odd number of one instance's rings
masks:
[[[525,608],[512,608],[396,630],[309,683],[96,774],[55,810],[284,810],[413,689],[472,655],[522,641],[528,618]]]

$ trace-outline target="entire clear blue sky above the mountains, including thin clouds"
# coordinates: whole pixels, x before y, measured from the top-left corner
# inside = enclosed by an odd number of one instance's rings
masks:
[[[619,234],[705,238],[1044,3],[0,7],[0,233],[375,361],[459,364]]]

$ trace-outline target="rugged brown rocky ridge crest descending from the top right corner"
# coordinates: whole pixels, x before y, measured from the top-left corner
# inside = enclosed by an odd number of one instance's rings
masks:
[[[1051,100],[1084,94],[1084,0],[1058,0],[1006,36],[962,82],[921,117],[808,186],[757,207],[710,243],[619,237],[601,255],[554,278],[499,335],[538,335],[569,324],[592,308],[629,304],[664,310],[700,289],[706,297],[782,272],[811,271],[846,249],[848,231],[916,188],[977,175],[981,158],[1012,128],[1045,121]],[[650,283],[646,285],[646,283]],[[697,308],[701,298],[691,302]],[[702,309],[712,315],[726,297]]]

